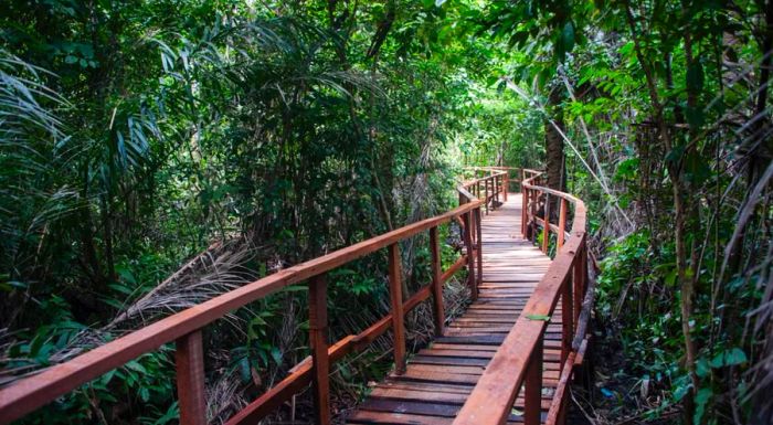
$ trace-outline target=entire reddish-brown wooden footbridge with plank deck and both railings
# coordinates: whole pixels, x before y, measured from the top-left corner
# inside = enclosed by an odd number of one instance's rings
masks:
[[[541,187],[541,174],[533,170],[521,171],[519,194],[508,193],[510,171],[476,169],[484,176],[457,188],[459,206],[447,213],[280,270],[4,387],[0,423],[21,418],[174,342],[181,423],[207,424],[202,329],[284,287],[307,283],[311,355],[229,425],[257,424],[309,384],[316,422],[331,423],[330,364],[389,330],[394,370],[348,415],[348,423],[562,424],[568,385],[586,346],[593,299],[586,285],[585,206],[570,194]],[[551,213],[551,208],[558,211]],[[462,229],[464,249],[442,270],[438,226],[452,221]],[[415,294],[402,294],[399,243],[423,232],[430,236],[432,281]],[[326,273],[380,249],[388,251],[391,312],[329,344]],[[554,252],[553,259],[549,252]],[[447,322],[443,285],[462,269],[473,302]],[[409,355],[404,317],[425,300],[434,307],[436,338]]]

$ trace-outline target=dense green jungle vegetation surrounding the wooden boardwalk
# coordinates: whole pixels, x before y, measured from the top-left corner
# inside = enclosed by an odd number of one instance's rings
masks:
[[[4,0],[0,385],[508,166],[589,204],[596,369],[572,417],[771,424],[772,54],[773,0]],[[406,286],[428,256],[405,247]],[[389,309],[385,265],[329,277],[333,340]],[[308,354],[303,290],[208,330],[212,423]],[[389,349],[337,363],[339,416]],[[165,346],[21,423],[176,423],[173,375]]]

